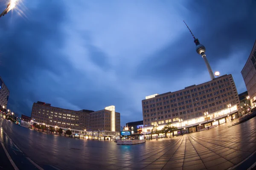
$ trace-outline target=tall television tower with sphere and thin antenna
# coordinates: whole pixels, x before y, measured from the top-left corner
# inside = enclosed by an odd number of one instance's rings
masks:
[[[183,21],[183,22],[185,23],[185,21]],[[186,24],[186,23],[185,23],[185,24]],[[186,26],[187,26],[187,25],[186,25]],[[187,26],[187,28],[189,29],[188,26]],[[193,38],[194,38],[194,42],[195,42],[195,45],[196,45],[196,47],[195,47],[196,52],[197,52],[198,54],[201,54],[201,56],[202,56],[203,59],[204,59],[204,62],[205,62],[205,64],[206,64],[206,66],[207,66],[207,69],[208,69],[208,72],[209,72],[209,75],[210,75],[211,79],[214,79],[215,77],[214,77],[214,74],[213,74],[213,72],[212,72],[212,68],[211,68],[211,66],[210,66],[210,64],[209,64],[209,62],[208,62],[208,60],[207,60],[207,58],[206,58],[206,55],[204,54],[204,53],[205,53],[205,47],[204,47],[204,45],[200,44],[199,40],[198,40],[197,38],[195,38],[195,36],[193,35],[193,33],[192,33],[192,31],[191,31],[190,29],[189,29],[189,31],[190,31],[190,33],[192,34]]]

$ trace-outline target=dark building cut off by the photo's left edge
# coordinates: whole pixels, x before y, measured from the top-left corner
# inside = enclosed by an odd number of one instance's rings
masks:
[[[10,91],[0,77],[0,116],[3,117],[6,112],[6,107],[9,99]]]

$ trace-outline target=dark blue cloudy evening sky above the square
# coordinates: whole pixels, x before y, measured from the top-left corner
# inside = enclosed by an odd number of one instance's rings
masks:
[[[0,1],[0,9],[6,1]],[[256,0],[22,0],[0,18],[0,76],[8,108],[33,102],[72,110],[115,105],[121,125],[143,120],[141,100],[241,70],[256,40]]]

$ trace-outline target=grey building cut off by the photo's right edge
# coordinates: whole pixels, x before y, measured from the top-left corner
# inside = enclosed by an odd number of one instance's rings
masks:
[[[256,41],[241,74],[250,97],[251,108],[253,109],[256,107]]]

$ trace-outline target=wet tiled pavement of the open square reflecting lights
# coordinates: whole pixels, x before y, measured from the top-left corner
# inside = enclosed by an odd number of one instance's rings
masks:
[[[27,158],[44,170],[246,170],[256,161],[256,117],[136,145],[54,136],[3,119],[0,126],[0,139],[20,170],[38,169]]]

